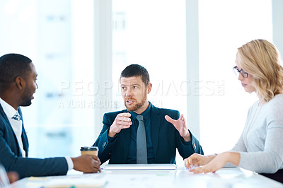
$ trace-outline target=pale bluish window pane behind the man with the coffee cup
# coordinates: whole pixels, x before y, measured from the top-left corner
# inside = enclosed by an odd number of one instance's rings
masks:
[[[76,156],[95,141],[93,1],[0,1],[0,52],[24,54],[39,89],[22,107],[29,156]]]

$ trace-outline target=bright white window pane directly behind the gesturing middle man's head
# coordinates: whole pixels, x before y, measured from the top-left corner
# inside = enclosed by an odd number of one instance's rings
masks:
[[[149,100],[186,114],[185,1],[113,0],[113,98],[119,100],[120,73],[129,64],[149,71]]]

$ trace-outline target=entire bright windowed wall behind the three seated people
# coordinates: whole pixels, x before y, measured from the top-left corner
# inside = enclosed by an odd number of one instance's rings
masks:
[[[233,73],[254,39],[283,50],[280,0],[1,0],[0,56],[33,60],[39,89],[22,107],[30,157],[80,155],[105,112],[125,108],[120,72],[141,64],[149,100],[179,110],[205,154],[229,150],[257,100]],[[178,156],[178,165],[183,159]]]

